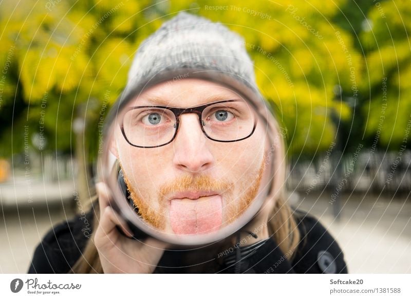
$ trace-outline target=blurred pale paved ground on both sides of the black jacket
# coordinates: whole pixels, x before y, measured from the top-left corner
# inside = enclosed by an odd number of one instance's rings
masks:
[[[296,199],[320,219],[343,248],[350,273],[411,273],[411,200],[356,195],[342,198],[340,221],[329,195]],[[0,213],[0,273],[25,273],[35,246],[52,225],[73,215],[63,204],[23,205]]]

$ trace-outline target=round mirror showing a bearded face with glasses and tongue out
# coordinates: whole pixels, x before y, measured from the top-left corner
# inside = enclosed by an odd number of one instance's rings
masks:
[[[134,86],[110,110],[98,171],[135,238],[201,245],[245,227],[273,178],[259,93],[193,69]]]

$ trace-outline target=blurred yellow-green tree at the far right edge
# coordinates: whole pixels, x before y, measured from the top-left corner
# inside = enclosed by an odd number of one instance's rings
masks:
[[[398,151],[411,126],[411,7],[382,2],[369,12],[360,35],[365,52],[363,127],[370,142]]]

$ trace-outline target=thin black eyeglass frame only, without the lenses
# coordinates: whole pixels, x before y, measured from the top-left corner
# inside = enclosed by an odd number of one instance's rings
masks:
[[[210,136],[207,135],[206,131],[204,130],[204,124],[202,123],[201,116],[202,116],[202,113],[203,113],[204,109],[206,109],[209,106],[212,106],[214,104],[219,104],[219,103],[238,102],[238,101],[243,101],[243,100],[240,100],[240,99],[222,100],[222,101],[215,101],[215,102],[207,103],[207,104],[204,104],[204,105],[192,106],[192,107],[187,107],[187,108],[170,107],[170,106],[158,106],[158,105],[133,106],[133,107],[129,107],[125,111],[125,113],[122,115],[122,118],[121,118],[121,121],[120,121],[119,125],[120,125],[120,129],[121,129],[121,133],[123,134],[123,137],[127,141],[128,144],[130,144],[134,147],[140,147],[140,148],[155,148],[155,147],[164,146],[164,145],[167,145],[167,144],[173,142],[173,140],[176,138],[177,133],[178,133],[178,128],[179,128],[179,124],[180,124],[180,116],[182,114],[195,113],[198,116],[198,121],[200,123],[201,130],[202,130],[203,134],[206,135],[206,137],[208,139],[213,140],[213,141],[217,141],[217,142],[236,142],[236,141],[247,139],[251,135],[254,134],[255,128],[257,126],[257,117],[254,117],[254,126],[253,126],[253,129],[251,130],[251,133],[248,136],[242,137],[240,139],[234,139],[234,140],[218,140],[218,139],[211,138]],[[161,109],[167,109],[167,110],[172,111],[175,118],[176,118],[175,133],[174,133],[174,136],[172,137],[172,139],[170,141],[166,142],[166,143],[155,145],[155,146],[141,146],[141,145],[135,145],[135,144],[131,143],[128,140],[128,138],[127,138],[127,136],[124,132],[124,124],[123,124],[124,115],[130,110],[139,109],[139,108],[161,108]],[[254,113],[254,116],[255,116],[255,113]]]

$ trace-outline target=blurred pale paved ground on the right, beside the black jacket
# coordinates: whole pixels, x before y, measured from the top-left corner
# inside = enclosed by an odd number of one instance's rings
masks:
[[[411,273],[411,200],[344,195],[340,221],[330,196],[300,199],[297,206],[319,217],[343,249],[350,273]]]

